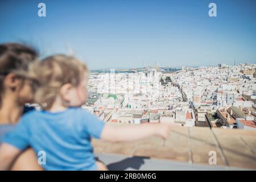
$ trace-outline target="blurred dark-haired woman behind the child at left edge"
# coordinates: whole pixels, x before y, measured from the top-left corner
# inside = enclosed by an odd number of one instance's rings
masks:
[[[13,130],[20,117],[31,108],[24,106],[33,101],[30,80],[17,74],[27,71],[28,64],[38,58],[35,49],[17,43],[0,44],[0,144],[3,135]],[[13,170],[41,170],[31,148],[15,160]]]

